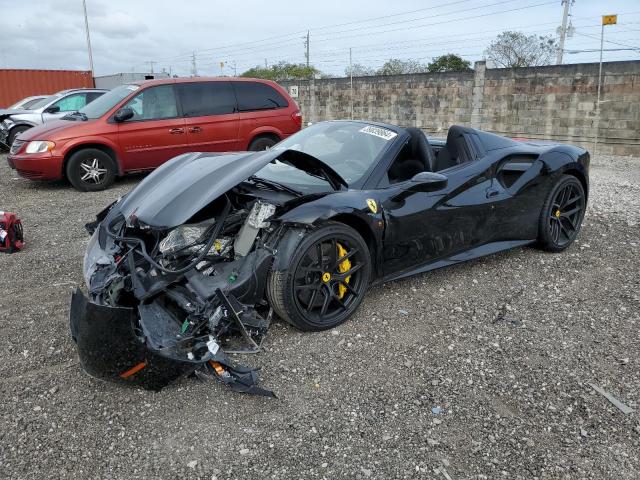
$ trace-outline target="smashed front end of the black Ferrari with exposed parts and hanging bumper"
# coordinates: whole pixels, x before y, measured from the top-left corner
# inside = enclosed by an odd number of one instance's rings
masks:
[[[273,395],[229,353],[254,353],[272,310],[265,282],[284,229],[277,206],[233,189],[173,228],[151,228],[117,202],[90,224],[71,334],[92,376],[160,390],[196,373]]]

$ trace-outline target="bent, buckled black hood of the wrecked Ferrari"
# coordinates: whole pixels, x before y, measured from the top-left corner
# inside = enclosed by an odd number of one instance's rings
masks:
[[[166,162],[118,204],[129,225],[166,229],[182,225],[216,198],[279,159],[337,189],[346,182],[331,167],[296,150],[240,153],[188,153]]]

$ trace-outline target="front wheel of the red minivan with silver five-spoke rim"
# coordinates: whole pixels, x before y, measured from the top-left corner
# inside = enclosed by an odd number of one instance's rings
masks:
[[[67,178],[76,190],[97,192],[111,186],[116,178],[116,162],[96,148],[80,150],[67,163]]]

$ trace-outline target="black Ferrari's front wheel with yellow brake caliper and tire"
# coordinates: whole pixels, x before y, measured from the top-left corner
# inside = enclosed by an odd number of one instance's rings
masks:
[[[355,312],[370,276],[366,242],[352,228],[330,223],[301,241],[284,270],[269,274],[267,298],[278,316],[300,330],[327,330]]]

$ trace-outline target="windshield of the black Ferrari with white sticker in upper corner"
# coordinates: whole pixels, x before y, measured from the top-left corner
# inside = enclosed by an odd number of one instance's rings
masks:
[[[274,150],[297,150],[307,153],[333,168],[352,185],[360,180],[380,154],[397,136],[393,130],[360,122],[323,122],[312,125],[278,143]],[[276,161],[257,175],[267,180],[295,185],[303,191],[326,189],[326,180]]]

